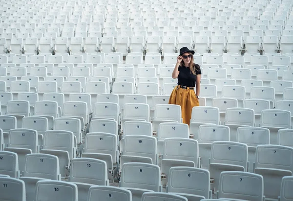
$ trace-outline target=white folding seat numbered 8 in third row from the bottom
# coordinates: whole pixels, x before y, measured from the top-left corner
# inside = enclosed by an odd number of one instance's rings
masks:
[[[246,172],[248,166],[248,146],[246,144],[232,141],[214,141],[211,145],[209,163],[210,177],[214,179],[211,188],[221,190],[219,184],[222,171]]]

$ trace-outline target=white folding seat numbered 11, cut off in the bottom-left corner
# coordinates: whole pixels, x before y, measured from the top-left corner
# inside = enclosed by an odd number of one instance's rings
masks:
[[[15,201],[26,200],[26,189],[23,181],[15,178],[1,177],[0,184],[5,188],[1,195],[3,199]]]

